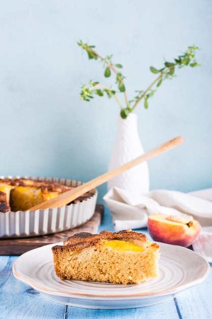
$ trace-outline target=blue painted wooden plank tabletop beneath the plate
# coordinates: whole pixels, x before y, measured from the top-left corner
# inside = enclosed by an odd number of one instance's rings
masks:
[[[100,231],[114,231],[108,209]],[[147,230],[142,232],[147,234]],[[94,310],[57,304],[43,298],[36,290],[17,280],[12,265],[17,256],[0,256],[0,318],[1,319],[212,319],[212,272],[197,286],[181,292],[175,299],[143,308],[125,310]],[[210,270],[212,265],[210,264]]]

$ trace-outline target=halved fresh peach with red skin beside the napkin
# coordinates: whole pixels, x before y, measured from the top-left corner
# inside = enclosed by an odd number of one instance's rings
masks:
[[[198,221],[166,214],[148,216],[147,228],[154,241],[183,247],[191,246],[201,232]]]

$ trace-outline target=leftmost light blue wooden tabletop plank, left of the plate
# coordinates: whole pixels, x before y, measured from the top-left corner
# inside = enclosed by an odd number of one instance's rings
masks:
[[[64,318],[65,305],[48,301],[13,276],[12,264],[16,258],[0,258],[0,318]]]

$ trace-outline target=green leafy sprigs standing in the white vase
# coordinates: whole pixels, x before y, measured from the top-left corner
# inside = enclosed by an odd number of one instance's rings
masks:
[[[126,102],[126,107],[123,106],[122,102],[119,100],[117,97],[117,92],[113,90],[112,88],[109,88],[107,86],[99,84],[99,82],[89,82],[89,86],[83,85],[81,87],[81,93],[80,97],[81,99],[85,101],[90,101],[90,99],[94,98],[94,94],[99,95],[99,96],[104,96],[104,93],[110,98],[110,97],[115,97],[116,101],[118,102],[120,106],[120,116],[123,119],[126,119],[129,113],[133,112],[135,108],[137,107],[138,103],[143,99],[144,100],[144,108],[148,108],[148,99],[149,97],[152,97],[156,89],[153,89],[154,87],[158,88],[161,86],[162,82],[165,79],[171,79],[174,76],[176,66],[178,68],[182,68],[184,66],[199,66],[200,64],[196,62],[195,60],[195,52],[198,49],[197,46],[189,46],[188,49],[185,51],[185,53],[181,56],[178,56],[177,59],[174,59],[174,62],[164,62],[164,67],[161,69],[156,69],[153,66],[150,66],[150,71],[153,72],[154,74],[158,74],[156,77],[155,81],[153,81],[152,84],[150,84],[145,91],[135,91],[137,95],[134,97],[133,100],[129,101],[128,96],[126,93],[126,88],[124,84],[124,78],[125,76],[117,71],[117,68],[120,69],[122,68],[121,64],[113,64],[112,63],[112,55],[107,56],[106,58],[103,58],[100,56],[95,50],[94,45],[88,45],[87,43],[83,43],[81,40],[78,42],[78,45],[81,46],[88,54],[88,59],[95,59],[98,60],[100,59],[104,63],[104,76],[105,77],[110,77],[111,76],[111,71],[115,74],[116,76],[116,84],[118,86],[118,92],[124,93],[125,95],[125,102]],[[133,103],[132,106],[130,106]]]

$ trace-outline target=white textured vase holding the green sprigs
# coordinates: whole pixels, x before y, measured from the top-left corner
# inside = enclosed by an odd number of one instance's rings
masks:
[[[137,126],[137,115],[129,114],[127,119],[118,118],[117,136],[111,154],[108,170],[111,171],[144,153]],[[112,187],[146,194],[149,192],[149,171],[146,162],[117,175],[107,182]]]

